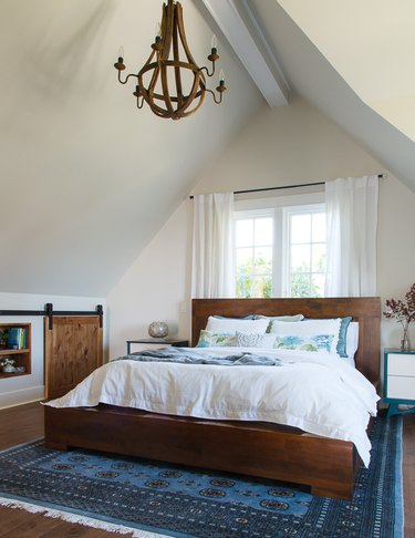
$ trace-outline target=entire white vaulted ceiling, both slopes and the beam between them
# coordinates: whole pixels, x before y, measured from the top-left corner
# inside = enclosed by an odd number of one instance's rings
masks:
[[[398,40],[400,23],[387,28],[384,17],[396,2],[367,0],[363,11],[359,0],[181,3],[199,64],[217,33],[228,92],[220,106],[207,96],[195,115],[173,122],[137,111],[134,89],[120,85],[113,68],[121,45],[128,72],[147,60],[162,0],[0,2],[0,291],[105,296],[204,167],[260,106],[283,105],[290,92],[415,190],[412,86],[397,92],[400,70],[391,71],[400,54],[407,71],[413,46],[381,48],[373,31],[378,21],[385,40]],[[372,40],[362,56],[365,24]],[[342,30],[350,35],[338,38]],[[373,84],[394,77],[372,96],[369,52],[382,71]]]

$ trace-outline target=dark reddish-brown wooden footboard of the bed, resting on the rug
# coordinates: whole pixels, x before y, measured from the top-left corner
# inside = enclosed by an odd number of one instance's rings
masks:
[[[268,423],[206,421],[127,410],[44,407],[45,446],[121,455],[279,479],[351,499],[360,458],[350,442]]]

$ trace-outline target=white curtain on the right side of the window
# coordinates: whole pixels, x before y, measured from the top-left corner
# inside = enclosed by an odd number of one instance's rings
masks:
[[[376,294],[377,199],[377,176],[346,177],[325,183],[325,297]]]

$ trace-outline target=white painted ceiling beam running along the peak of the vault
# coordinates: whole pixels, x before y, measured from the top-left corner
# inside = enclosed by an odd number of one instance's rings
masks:
[[[247,2],[238,0],[237,7],[235,0],[201,1],[268,104],[288,104],[289,85]]]

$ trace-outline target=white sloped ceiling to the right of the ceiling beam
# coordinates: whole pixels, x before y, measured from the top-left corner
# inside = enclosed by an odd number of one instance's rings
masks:
[[[264,62],[278,65],[291,92],[415,190],[412,0],[203,1],[220,27],[243,20]],[[240,56],[246,43],[231,40]],[[267,97],[272,80],[249,72]]]

